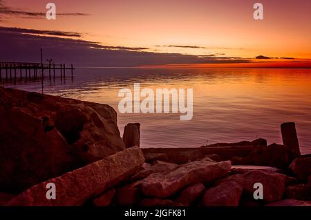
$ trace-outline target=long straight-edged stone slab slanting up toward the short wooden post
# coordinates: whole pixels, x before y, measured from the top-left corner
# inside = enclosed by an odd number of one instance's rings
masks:
[[[17,206],[73,206],[82,205],[92,196],[127,180],[144,163],[139,147],[124,149],[75,169],[72,172],[39,183],[12,199],[7,205]],[[55,184],[56,199],[46,199],[46,185]]]

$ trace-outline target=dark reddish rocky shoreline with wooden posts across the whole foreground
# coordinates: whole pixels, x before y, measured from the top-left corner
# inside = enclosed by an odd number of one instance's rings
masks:
[[[292,122],[283,145],[140,148],[140,125],[122,140],[105,104],[0,87],[0,116],[0,205],[311,206],[311,155]]]

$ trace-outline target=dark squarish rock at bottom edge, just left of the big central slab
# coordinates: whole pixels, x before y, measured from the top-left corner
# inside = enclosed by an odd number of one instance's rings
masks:
[[[120,206],[130,206],[138,203],[140,199],[140,189],[131,187],[131,185],[118,188],[116,195],[116,203]]]

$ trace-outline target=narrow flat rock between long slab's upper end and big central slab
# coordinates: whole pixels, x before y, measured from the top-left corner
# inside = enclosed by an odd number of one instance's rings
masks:
[[[156,174],[160,172],[169,172],[173,169],[176,169],[177,167],[178,165],[176,163],[167,163],[163,161],[157,161],[156,163],[151,165],[151,167],[144,169],[138,172],[137,174],[135,174],[134,176],[132,176],[131,180],[135,181],[138,179],[146,178],[150,174]]]

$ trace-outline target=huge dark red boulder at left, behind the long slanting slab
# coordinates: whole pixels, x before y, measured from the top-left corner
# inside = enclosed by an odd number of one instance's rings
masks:
[[[0,191],[28,187],[124,149],[106,104],[0,87]]]

